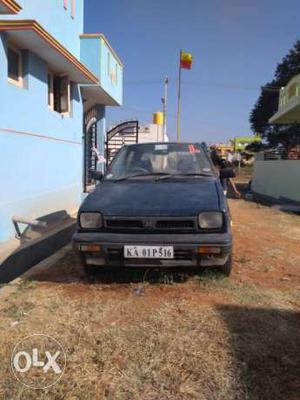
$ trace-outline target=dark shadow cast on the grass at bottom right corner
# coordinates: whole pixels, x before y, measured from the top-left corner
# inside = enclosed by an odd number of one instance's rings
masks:
[[[300,313],[218,306],[230,333],[236,371],[251,400],[297,400]]]

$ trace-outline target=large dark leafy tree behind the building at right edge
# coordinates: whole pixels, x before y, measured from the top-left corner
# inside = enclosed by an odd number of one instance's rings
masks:
[[[272,125],[269,119],[278,110],[279,89],[300,73],[300,40],[277,65],[274,79],[264,85],[250,113],[249,121],[253,132],[258,133],[272,146],[300,143],[300,125]]]

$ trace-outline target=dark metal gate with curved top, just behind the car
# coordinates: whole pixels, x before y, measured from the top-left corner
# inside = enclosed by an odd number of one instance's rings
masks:
[[[138,143],[139,122],[125,121],[106,133],[106,163],[109,165],[125,144]]]

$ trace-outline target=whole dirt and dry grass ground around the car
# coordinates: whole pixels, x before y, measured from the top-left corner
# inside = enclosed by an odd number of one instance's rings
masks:
[[[230,200],[234,266],[126,271],[90,281],[70,250],[0,304],[1,399],[298,400],[300,216]],[[45,391],[10,371],[21,338],[67,355]]]

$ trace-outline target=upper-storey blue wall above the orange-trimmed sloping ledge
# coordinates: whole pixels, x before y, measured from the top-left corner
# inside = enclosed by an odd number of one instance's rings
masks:
[[[34,19],[64,47],[80,59],[79,35],[83,32],[84,0],[75,1],[74,18],[72,0],[18,0],[22,10],[17,15],[1,15],[1,19]]]

